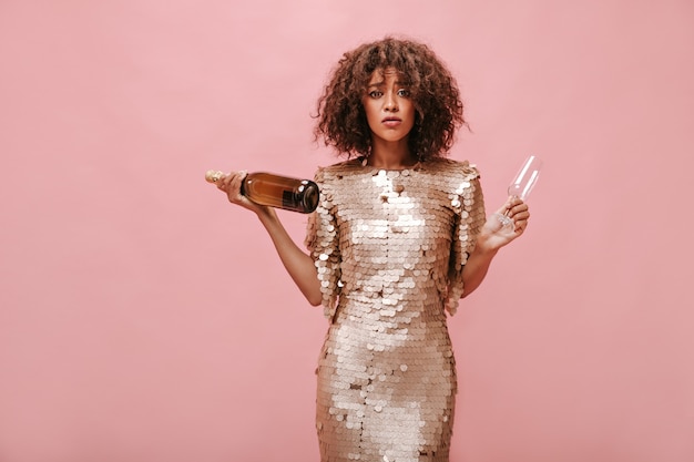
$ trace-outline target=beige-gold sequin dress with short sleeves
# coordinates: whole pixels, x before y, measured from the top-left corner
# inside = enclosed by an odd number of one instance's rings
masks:
[[[348,161],[316,173],[306,245],[330,320],[318,360],[323,462],[448,461],[456,367],[446,310],[484,223],[477,171]]]

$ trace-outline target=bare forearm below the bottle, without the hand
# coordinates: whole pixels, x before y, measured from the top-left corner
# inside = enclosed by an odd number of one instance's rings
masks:
[[[258,212],[257,215],[267,230],[282,264],[304,297],[313,306],[320,305],[320,283],[313,258],[296,245],[273,208],[267,207]]]

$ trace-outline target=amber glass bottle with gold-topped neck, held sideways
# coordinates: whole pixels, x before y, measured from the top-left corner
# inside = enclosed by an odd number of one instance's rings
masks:
[[[205,179],[215,183],[224,173],[208,171]],[[318,206],[318,185],[310,179],[290,178],[266,172],[246,175],[241,183],[241,194],[259,205],[309,214]]]

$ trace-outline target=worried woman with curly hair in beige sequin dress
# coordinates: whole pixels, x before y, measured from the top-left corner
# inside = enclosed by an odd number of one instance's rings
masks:
[[[455,79],[425,44],[386,38],[344,54],[318,101],[316,135],[347,161],[319,168],[304,253],[272,208],[253,211],[306,299],[330,325],[318,361],[322,461],[448,461],[456,367],[446,310],[520,236],[511,197],[486,219],[478,171],[445,158],[465,123]]]

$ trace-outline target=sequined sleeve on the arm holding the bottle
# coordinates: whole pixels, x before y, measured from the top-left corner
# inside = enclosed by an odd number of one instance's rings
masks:
[[[318,273],[324,314],[327,318],[333,318],[341,288],[339,236],[333,192],[323,168],[316,172],[314,181],[320,189],[320,201],[316,211],[308,217],[305,245]]]

